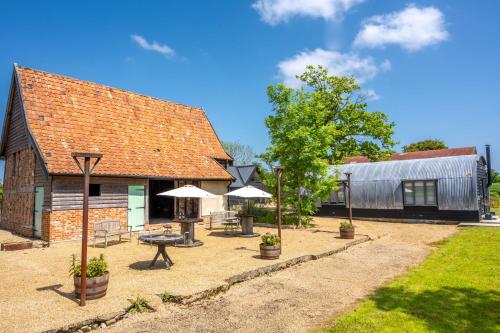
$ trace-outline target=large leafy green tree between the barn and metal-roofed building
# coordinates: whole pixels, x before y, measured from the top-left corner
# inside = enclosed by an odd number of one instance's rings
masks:
[[[300,226],[304,216],[316,211],[316,201],[336,187],[330,164],[357,154],[379,159],[392,152],[395,142],[394,124],[384,113],[367,111],[354,78],[330,76],[321,66],[308,66],[297,78],[305,88],[280,83],[267,89],[274,114],[265,120],[271,146],[261,158],[269,166],[286,168],[283,203]],[[274,177],[263,180],[274,190]]]

